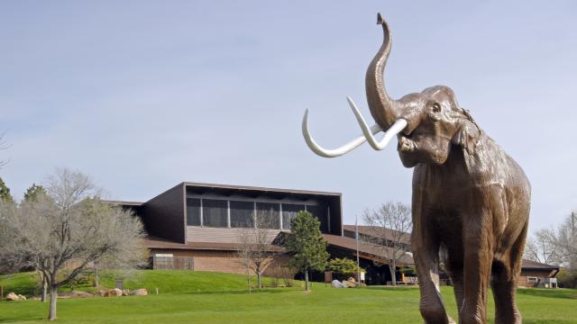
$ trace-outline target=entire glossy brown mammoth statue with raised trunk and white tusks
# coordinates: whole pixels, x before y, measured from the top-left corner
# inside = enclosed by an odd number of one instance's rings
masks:
[[[527,176],[457,103],[451,88],[436,85],[398,100],[389,97],[383,72],[391,40],[389,26],[378,19],[384,40],[365,79],[376,124],[369,127],[348,98],[363,135],[341,148],[321,148],[310,136],[305,112],[307,144],[322,157],[337,157],[365,141],[382,149],[397,135],[400,160],[415,167],[411,248],[426,323],[454,322],[439,291],[440,261],[454,285],[460,323],[486,322],[489,284],[495,322],[520,323],[515,293],[531,199]],[[382,130],[384,138],[375,139]]]

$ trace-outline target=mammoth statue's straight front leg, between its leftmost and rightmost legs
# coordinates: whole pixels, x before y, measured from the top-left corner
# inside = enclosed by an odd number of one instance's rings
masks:
[[[487,322],[487,288],[493,260],[490,216],[473,216],[463,227],[463,306],[459,322]]]

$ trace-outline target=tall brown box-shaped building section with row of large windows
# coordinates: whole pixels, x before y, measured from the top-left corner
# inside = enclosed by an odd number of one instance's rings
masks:
[[[235,256],[239,232],[259,226],[272,243],[290,231],[298,211],[309,211],[320,220],[324,235],[343,234],[341,193],[181,183],[147,202],[115,203],[142,219],[148,233],[144,244],[155,268],[244,273]],[[258,224],[260,212],[268,212],[273,221]],[[270,245],[270,252],[281,251]],[[287,261],[279,257],[276,262]]]

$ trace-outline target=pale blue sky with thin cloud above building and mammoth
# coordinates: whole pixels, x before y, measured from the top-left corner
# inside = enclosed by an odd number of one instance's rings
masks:
[[[345,222],[410,202],[396,143],[325,159],[370,117],[364,71],[393,49],[389,93],[449,85],[524,167],[533,230],[577,208],[577,4],[573,1],[12,1],[0,3],[0,176],[16,197],[55,166],[112,198],[182,181],[343,193]],[[538,134],[541,134],[537,137]]]

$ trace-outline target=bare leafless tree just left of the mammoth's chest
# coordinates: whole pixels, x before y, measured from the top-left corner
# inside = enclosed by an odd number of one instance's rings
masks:
[[[391,284],[397,285],[396,269],[408,251],[408,232],[413,226],[411,210],[402,202],[386,202],[377,210],[365,210],[362,220],[370,226],[366,239],[380,248],[383,260],[391,275]]]

